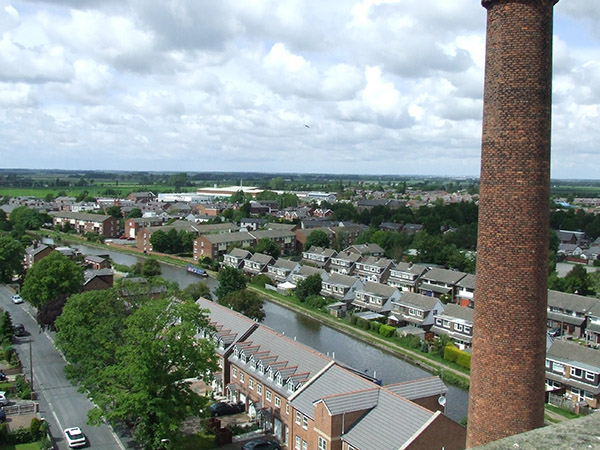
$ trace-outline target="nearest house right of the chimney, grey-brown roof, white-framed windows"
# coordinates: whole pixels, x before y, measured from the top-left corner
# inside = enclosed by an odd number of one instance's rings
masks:
[[[562,391],[573,402],[598,408],[600,351],[557,339],[546,352],[546,384]]]

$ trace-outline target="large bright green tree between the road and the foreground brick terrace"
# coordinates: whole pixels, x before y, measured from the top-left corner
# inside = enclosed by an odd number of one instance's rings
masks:
[[[171,300],[149,301],[125,319],[123,344],[116,362],[99,367],[105,380],[98,405],[88,413],[92,423],[133,424],[142,448],[172,443],[190,416],[201,416],[209,397],[191,389],[190,378],[209,381],[217,370],[211,340],[197,339],[209,323],[198,305]]]

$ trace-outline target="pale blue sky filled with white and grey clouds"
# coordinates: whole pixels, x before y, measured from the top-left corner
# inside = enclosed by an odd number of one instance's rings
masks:
[[[5,168],[479,174],[478,0],[0,0]],[[600,178],[600,8],[555,7],[552,176]]]

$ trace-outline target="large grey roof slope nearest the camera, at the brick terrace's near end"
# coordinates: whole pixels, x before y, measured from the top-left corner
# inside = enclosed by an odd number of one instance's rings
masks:
[[[362,450],[397,450],[408,444],[433,418],[433,413],[399,395],[379,389],[377,405],[342,440]]]

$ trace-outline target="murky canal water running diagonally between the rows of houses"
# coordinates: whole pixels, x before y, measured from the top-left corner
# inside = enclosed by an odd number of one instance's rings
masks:
[[[115,263],[128,266],[141,260],[136,256],[107,249],[85,245],[74,245],[73,247],[86,255],[108,255]],[[161,263],[161,269],[163,278],[177,282],[182,289],[192,283],[204,281],[212,291],[218,284],[214,278],[200,278],[180,267]],[[340,333],[295,311],[268,301],[265,302],[264,309],[266,317],[263,323],[269,328],[329,355],[342,364],[379,378],[383,380],[384,384],[431,376],[429,372],[413,366],[390,353],[365,344],[347,334]],[[452,419],[460,421],[467,415],[467,407],[468,393],[462,389],[449,386],[446,413]]]

